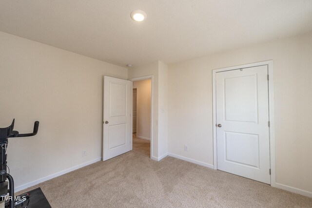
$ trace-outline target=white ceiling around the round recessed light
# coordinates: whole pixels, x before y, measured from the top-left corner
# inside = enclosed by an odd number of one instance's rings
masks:
[[[312,0],[0,0],[0,31],[119,66],[173,63],[310,32]]]

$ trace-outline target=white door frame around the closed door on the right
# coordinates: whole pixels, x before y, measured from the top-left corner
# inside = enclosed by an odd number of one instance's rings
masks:
[[[217,170],[217,145],[216,145],[216,73],[243,69],[255,66],[268,66],[268,93],[269,93],[269,140],[270,140],[270,167],[271,167],[271,186],[276,187],[275,182],[275,137],[274,137],[274,102],[273,102],[273,60],[260,61],[255,63],[243,64],[238,66],[214,69],[213,73],[213,139],[214,139],[214,169]]]

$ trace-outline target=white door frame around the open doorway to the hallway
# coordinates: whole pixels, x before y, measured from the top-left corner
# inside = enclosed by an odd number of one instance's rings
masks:
[[[140,81],[140,80],[145,80],[145,79],[151,79],[151,143],[150,143],[150,158],[153,159],[153,75],[148,75],[148,76],[139,76],[135,78],[130,78],[128,80],[134,82],[134,81]],[[133,92],[133,91],[132,91]],[[131,109],[133,109],[133,96],[131,96]],[[133,128],[133,118],[131,114],[131,126]],[[131,144],[130,144],[130,150],[132,150],[132,137],[131,137]]]

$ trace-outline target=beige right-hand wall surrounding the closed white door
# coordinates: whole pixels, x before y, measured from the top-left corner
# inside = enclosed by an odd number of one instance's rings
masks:
[[[276,183],[311,192],[312,34],[169,65],[168,151],[213,164],[212,70],[270,59]]]

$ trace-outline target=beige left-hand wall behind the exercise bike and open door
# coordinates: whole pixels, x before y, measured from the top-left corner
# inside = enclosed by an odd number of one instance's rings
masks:
[[[127,69],[0,32],[0,127],[40,122],[36,136],[9,139],[15,187],[101,157],[104,75]]]

